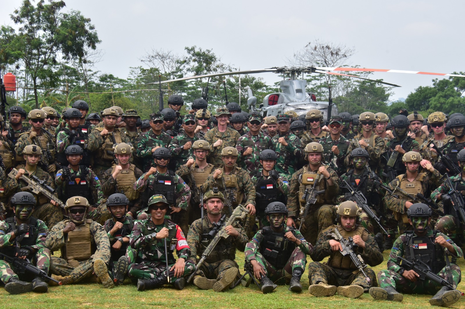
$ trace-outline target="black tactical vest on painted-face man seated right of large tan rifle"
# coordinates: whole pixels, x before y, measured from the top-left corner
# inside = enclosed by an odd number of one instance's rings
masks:
[[[283,269],[291,258],[295,244],[284,236],[284,232],[274,232],[270,226],[264,226],[262,233],[263,242],[260,244],[260,253],[276,269]]]

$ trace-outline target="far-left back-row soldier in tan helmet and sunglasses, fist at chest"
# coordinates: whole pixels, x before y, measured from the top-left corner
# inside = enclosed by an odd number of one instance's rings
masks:
[[[16,163],[24,163],[23,152],[27,145],[39,146],[43,152],[40,159],[40,166],[51,175],[57,170],[55,162],[55,143],[53,142],[53,135],[45,129],[42,130],[44,125],[45,112],[42,109],[33,109],[27,115],[31,129],[27,132],[21,133],[14,151],[16,152]]]

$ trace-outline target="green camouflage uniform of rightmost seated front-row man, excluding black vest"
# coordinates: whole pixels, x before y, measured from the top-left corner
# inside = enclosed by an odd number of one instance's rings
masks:
[[[438,232],[436,235],[433,235],[434,231],[431,228],[428,228],[425,237],[437,237],[442,236],[447,240],[455,249],[457,256],[455,258],[461,258],[463,256],[462,250],[458,247],[458,245],[454,244],[450,238],[444,235],[441,232]],[[416,235],[414,234],[415,239]],[[400,293],[410,293],[410,294],[430,294],[434,295],[436,292],[441,289],[441,285],[429,280],[417,280],[416,282],[410,281],[405,277],[399,275],[398,271],[400,270],[401,266],[399,266],[397,262],[397,257],[404,257],[405,250],[408,250],[407,245],[407,234],[402,234],[399,238],[396,239],[394,245],[391,250],[391,254],[389,255],[389,259],[387,260],[387,269],[381,270],[378,273],[378,282],[379,287],[384,289],[387,287],[392,287]],[[433,239],[434,240],[434,239]],[[441,248],[446,250],[445,248],[441,247],[440,245],[436,244],[436,248]],[[452,255],[452,253],[449,252]],[[442,260],[444,261],[444,259]],[[437,261],[433,261],[433,263],[437,263]],[[430,265],[431,267],[432,265]],[[460,268],[456,264],[451,264],[451,271],[452,271],[452,281],[454,286],[460,282],[461,279],[461,272]],[[447,280],[447,270],[444,267],[440,270],[437,275],[439,277],[444,278]]]

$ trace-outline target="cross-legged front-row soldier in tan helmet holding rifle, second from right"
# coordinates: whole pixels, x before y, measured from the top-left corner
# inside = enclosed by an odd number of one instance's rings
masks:
[[[313,247],[310,257],[315,262],[308,265],[308,291],[314,296],[333,296],[336,291],[339,296],[357,298],[364,292],[376,286],[375,272],[365,268],[365,275],[359,271],[349,255],[343,255],[341,243],[334,239],[334,230],[338,230],[344,239],[352,238],[355,245],[354,253],[370,266],[383,262],[383,255],[379,251],[376,241],[367,230],[359,225],[360,208],[352,201],[339,204],[338,224],[331,225],[324,230]],[[319,263],[329,256],[327,263]]]

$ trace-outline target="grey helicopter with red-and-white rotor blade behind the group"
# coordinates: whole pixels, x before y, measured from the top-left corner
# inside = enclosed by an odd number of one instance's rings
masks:
[[[256,108],[257,97],[254,97],[250,87],[246,87],[247,90],[247,105],[249,110],[259,111],[263,117],[266,116],[277,116],[279,114],[286,113],[288,110],[293,110],[297,115],[306,114],[311,109],[319,109],[323,114],[323,123],[327,122],[332,113],[337,114],[337,106],[332,103],[331,97],[331,86],[329,88],[329,98],[328,102],[317,101],[315,94],[306,91],[307,81],[304,78],[305,74],[327,74],[335,76],[346,76],[354,77],[363,80],[368,80],[376,82],[379,84],[386,84],[393,87],[400,87],[396,84],[387,83],[382,80],[376,80],[366,77],[359,77],[355,75],[339,73],[339,72],[392,72],[392,73],[409,73],[409,74],[426,74],[426,75],[436,75],[436,76],[452,76],[452,77],[465,77],[465,75],[458,74],[445,74],[445,73],[432,73],[432,72],[423,72],[423,71],[404,71],[404,70],[385,70],[385,69],[366,69],[366,68],[351,68],[351,67],[313,67],[313,66],[304,66],[304,67],[272,67],[268,69],[257,69],[257,70],[242,70],[242,71],[231,71],[231,72],[221,72],[213,73],[199,76],[190,76],[190,77],[181,77],[171,80],[159,81],[158,83],[149,83],[149,84],[165,84],[171,82],[177,82],[182,80],[197,79],[204,77],[218,77],[226,75],[238,75],[238,74],[256,74],[264,72],[274,72],[281,74],[288,74],[291,76],[290,79],[284,79],[279,82],[279,88],[282,92],[270,93],[263,98],[263,102],[259,104],[259,108]],[[302,79],[296,78],[297,76],[302,75]],[[226,100],[227,101],[227,100]]]

